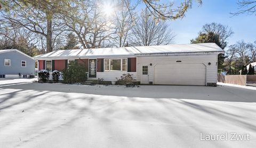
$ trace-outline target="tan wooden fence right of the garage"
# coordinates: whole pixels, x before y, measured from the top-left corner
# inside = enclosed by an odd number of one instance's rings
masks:
[[[256,75],[218,75],[218,81],[245,86],[246,84],[256,83]]]

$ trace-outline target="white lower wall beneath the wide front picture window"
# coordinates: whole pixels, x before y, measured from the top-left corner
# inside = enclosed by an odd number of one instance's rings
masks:
[[[97,72],[97,78],[89,78],[89,80],[97,80],[98,78],[103,78],[104,81],[116,81],[116,78],[120,78],[124,73],[133,74],[135,79],[137,78],[137,72],[118,72],[118,71],[111,71],[111,72]]]

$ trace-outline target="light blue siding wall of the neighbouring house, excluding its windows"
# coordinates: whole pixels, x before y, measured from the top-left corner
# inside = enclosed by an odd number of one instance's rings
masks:
[[[4,66],[4,59],[11,60],[11,66]],[[21,61],[26,61],[26,67],[21,67]],[[0,54],[0,75],[31,75],[35,73],[35,60],[17,51]]]

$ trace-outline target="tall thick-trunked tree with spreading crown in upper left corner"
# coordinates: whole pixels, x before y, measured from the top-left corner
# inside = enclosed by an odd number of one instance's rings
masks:
[[[70,12],[75,13],[75,0],[11,0],[4,3],[4,11],[1,15],[9,23],[15,23],[35,34],[40,34],[46,39],[46,52],[52,51],[54,42],[53,32],[59,26],[58,18]],[[2,0],[1,2],[4,2]],[[76,1],[77,2],[77,1]],[[57,32],[59,34],[59,32]],[[55,34],[55,35],[57,35]]]

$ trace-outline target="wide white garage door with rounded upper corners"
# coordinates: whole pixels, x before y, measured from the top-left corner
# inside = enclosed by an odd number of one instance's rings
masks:
[[[157,64],[154,67],[154,84],[205,85],[206,68],[202,63]]]

